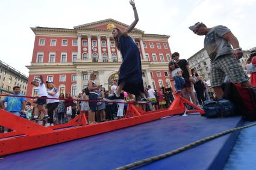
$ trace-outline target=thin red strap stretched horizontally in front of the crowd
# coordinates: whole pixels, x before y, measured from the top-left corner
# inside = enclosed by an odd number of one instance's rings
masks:
[[[71,101],[71,99],[67,99],[67,98],[52,98],[52,97],[31,97],[31,96],[15,96],[15,95],[7,95],[7,94],[0,94],[0,96],[4,96],[4,97],[25,97],[25,98],[31,98],[31,99],[53,99],[53,100],[69,100]],[[150,101],[148,102],[145,102],[145,103],[136,103],[136,102],[116,102],[116,101],[105,101],[104,99],[101,99],[101,100],[83,100],[83,99],[72,99],[72,101],[75,100],[75,101],[78,101],[78,102],[95,102],[95,103],[98,103],[98,102],[101,102],[101,103],[123,103],[123,104],[133,104],[133,105],[146,105],[148,104]],[[117,99],[119,100],[119,99]],[[122,100],[122,99],[121,99]]]

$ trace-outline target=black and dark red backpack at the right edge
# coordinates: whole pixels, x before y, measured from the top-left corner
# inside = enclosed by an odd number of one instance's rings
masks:
[[[240,83],[223,83],[224,99],[236,105],[237,114],[243,115],[248,121],[256,121],[256,88],[245,87]]]

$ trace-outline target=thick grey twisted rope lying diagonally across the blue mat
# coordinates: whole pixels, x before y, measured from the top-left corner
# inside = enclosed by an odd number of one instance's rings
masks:
[[[169,157],[169,156],[173,156],[174,154],[181,153],[182,151],[189,150],[190,148],[193,148],[197,145],[203,144],[204,142],[211,141],[212,139],[219,138],[220,136],[226,135],[226,134],[234,132],[236,130],[246,129],[248,127],[252,127],[252,126],[255,126],[255,125],[256,125],[256,123],[252,123],[252,124],[249,124],[248,126],[242,126],[242,127],[237,127],[237,128],[234,128],[234,129],[225,130],[223,132],[217,133],[216,135],[211,135],[211,136],[208,136],[204,139],[200,139],[198,141],[192,142],[192,143],[190,143],[188,145],[185,145],[183,147],[180,147],[176,150],[172,150],[172,151],[169,151],[169,152],[164,153],[164,154],[159,154],[158,156],[152,156],[152,157],[149,157],[149,158],[146,158],[146,159],[143,159],[143,160],[139,160],[137,162],[130,163],[130,164],[125,165],[125,166],[120,166],[119,168],[116,168],[116,169],[118,169],[118,170],[131,169],[131,168],[135,168],[136,166],[146,165],[147,163],[152,163],[152,162],[155,162],[157,160],[164,159],[164,158]]]

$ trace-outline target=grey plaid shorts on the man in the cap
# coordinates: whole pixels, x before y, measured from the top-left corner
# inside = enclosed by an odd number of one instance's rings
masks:
[[[248,76],[243,71],[239,61],[233,54],[219,56],[211,62],[210,70],[211,87],[219,87],[225,80],[225,76],[231,82],[242,83],[248,81]]]

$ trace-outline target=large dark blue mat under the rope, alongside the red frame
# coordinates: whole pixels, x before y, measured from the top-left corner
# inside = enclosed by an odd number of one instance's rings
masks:
[[[11,154],[0,160],[0,169],[114,169],[175,150],[241,124],[241,117],[169,117],[72,142]],[[220,154],[229,153],[233,146],[229,143],[236,140],[237,134],[238,132],[222,136],[138,169],[222,169],[226,158]]]

